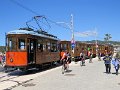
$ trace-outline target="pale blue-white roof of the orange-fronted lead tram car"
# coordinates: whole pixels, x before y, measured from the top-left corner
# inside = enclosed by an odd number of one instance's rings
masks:
[[[30,34],[30,35],[40,36],[44,38],[49,38],[49,39],[60,40],[57,37],[53,37],[51,34],[45,35],[35,31],[27,31],[27,30],[13,30],[13,31],[9,31],[7,35],[8,34]]]

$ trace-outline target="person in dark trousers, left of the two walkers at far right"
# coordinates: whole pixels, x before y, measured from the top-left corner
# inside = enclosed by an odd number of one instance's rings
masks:
[[[105,68],[106,68],[106,73],[111,73],[112,58],[110,57],[110,55],[106,54],[106,56],[103,58],[103,60],[104,60]]]

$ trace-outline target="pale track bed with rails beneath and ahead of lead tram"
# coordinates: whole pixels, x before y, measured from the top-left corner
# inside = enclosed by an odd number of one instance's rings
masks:
[[[51,70],[56,70],[59,68],[59,65],[51,68],[44,68],[40,71],[38,70],[29,70],[29,71],[10,71],[9,73],[3,73],[0,77],[0,89],[2,90],[11,90],[17,86],[25,85],[27,82],[33,80],[39,75],[44,75],[51,72]]]

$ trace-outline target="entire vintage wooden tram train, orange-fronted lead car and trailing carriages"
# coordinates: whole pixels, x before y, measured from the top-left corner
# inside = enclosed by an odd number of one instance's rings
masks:
[[[75,42],[73,51],[71,41],[60,41],[56,36],[42,30],[20,28],[6,34],[5,67],[28,70],[53,65],[54,62],[59,62],[66,50],[75,60],[80,59],[81,52],[84,52],[88,58],[88,52],[92,52],[95,57],[98,53],[103,56],[114,51],[112,45],[97,44],[96,46],[80,41]]]

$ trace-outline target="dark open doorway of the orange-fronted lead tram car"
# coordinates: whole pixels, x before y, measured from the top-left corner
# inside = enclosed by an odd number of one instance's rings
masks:
[[[28,63],[33,64],[36,60],[36,40],[28,40]]]

